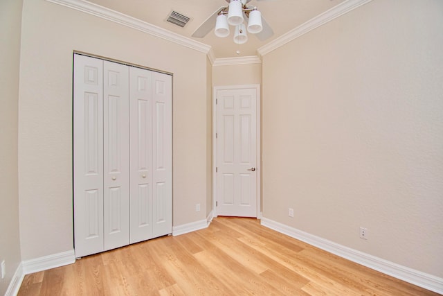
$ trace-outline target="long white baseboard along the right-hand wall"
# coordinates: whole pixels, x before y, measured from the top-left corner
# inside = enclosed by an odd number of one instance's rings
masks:
[[[336,254],[350,261],[359,263],[373,270],[383,272],[386,275],[401,279],[402,281],[407,281],[410,284],[431,290],[435,293],[443,294],[443,279],[440,277],[435,277],[434,275],[429,275],[427,273],[421,272],[419,270],[414,270],[397,263],[393,263],[370,254],[365,254],[363,252],[351,249],[350,247],[345,247],[344,245],[339,245],[332,241],[328,241],[325,238],[320,238],[307,232],[302,232],[301,230],[289,227],[282,223],[275,222],[268,218],[262,218],[261,224],[263,226],[269,227],[277,232],[286,234],[293,238],[296,238],[309,245],[314,245],[322,250]]]

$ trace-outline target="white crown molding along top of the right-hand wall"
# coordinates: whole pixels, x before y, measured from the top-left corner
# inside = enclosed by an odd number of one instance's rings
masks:
[[[284,35],[269,42],[268,44],[260,47],[260,49],[257,49],[257,52],[261,56],[266,55],[266,53],[270,53],[274,49],[278,49],[280,46],[283,46],[284,44],[287,44],[288,42],[291,42],[292,40],[305,35],[309,31],[312,31],[315,28],[318,28],[319,26],[322,26],[323,24],[326,24],[327,22],[332,21],[333,19],[336,19],[337,17],[340,17],[341,15],[344,15],[345,13],[350,12],[351,10],[354,10],[355,8],[358,8],[359,6],[362,6],[363,4],[366,4],[370,1],[372,0],[344,1],[337,6],[326,10],[322,14],[310,19],[309,21],[306,21],[304,24],[301,24],[297,28],[293,28],[293,30],[285,33]]]

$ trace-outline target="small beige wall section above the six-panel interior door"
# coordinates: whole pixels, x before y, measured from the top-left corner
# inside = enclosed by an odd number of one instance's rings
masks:
[[[213,67],[213,86],[261,85],[262,64],[233,64]]]

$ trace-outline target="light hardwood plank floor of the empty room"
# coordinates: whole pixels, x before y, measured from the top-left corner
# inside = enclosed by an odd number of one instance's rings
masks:
[[[260,225],[218,217],[181,236],[26,275],[18,295],[437,295]]]

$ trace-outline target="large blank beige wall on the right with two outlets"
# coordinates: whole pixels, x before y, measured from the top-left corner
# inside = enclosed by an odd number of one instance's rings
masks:
[[[374,0],[264,56],[264,217],[443,277],[442,12]]]

